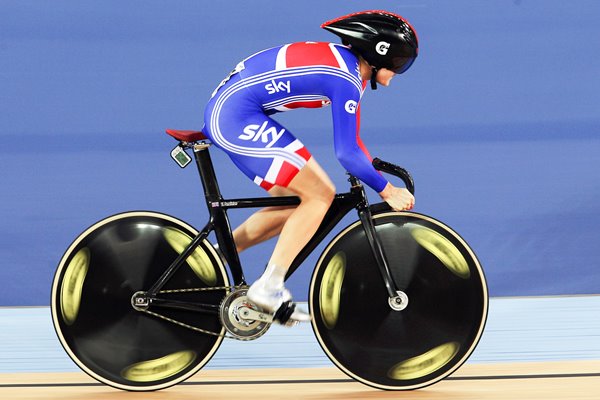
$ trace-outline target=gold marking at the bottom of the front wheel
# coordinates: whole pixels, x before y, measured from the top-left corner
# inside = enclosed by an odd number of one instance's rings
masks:
[[[448,342],[394,365],[388,376],[396,380],[421,378],[446,365],[458,353],[458,342]]]

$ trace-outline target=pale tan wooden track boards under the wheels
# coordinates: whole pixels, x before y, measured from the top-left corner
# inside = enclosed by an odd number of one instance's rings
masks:
[[[1,399],[594,399],[600,361],[466,364],[425,389],[386,392],[335,368],[205,370],[159,392],[124,392],[83,373],[0,374]]]

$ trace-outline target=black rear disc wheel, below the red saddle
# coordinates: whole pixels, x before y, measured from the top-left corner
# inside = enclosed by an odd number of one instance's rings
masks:
[[[54,277],[51,310],[61,344],[81,369],[120,389],[157,390],[187,379],[210,360],[222,336],[198,333],[131,304],[132,296],[148,290],[196,234],[164,214],[129,212],[94,224],[71,244]],[[162,290],[228,285],[222,261],[204,241]],[[223,334],[218,305],[225,295],[225,289],[161,294],[214,305],[214,314],[149,310]]]

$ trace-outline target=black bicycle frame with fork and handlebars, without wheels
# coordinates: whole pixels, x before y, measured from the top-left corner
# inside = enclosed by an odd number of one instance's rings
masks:
[[[300,204],[300,198],[295,196],[281,196],[281,197],[261,197],[261,198],[239,198],[239,199],[224,199],[219,189],[217,177],[212,164],[212,159],[208,152],[210,144],[205,142],[189,144],[182,142],[180,146],[183,148],[191,148],[194,151],[194,158],[196,166],[200,174],[200,180],[204,188],[206,205],[209,212],[209,222],[206,224],[204,229],[196,235],[186,249],[173,261],[173,263],[167,268],[163,275],[158,281],[146,292],[146,297],[152,299],[153,305],[162,307],[172,308],[185,308],[195,311],[211,312],[212,309],[203,307],[201,304],[196,303],[184,303],[175,302],[166,299],[156,298],[156,294],[161,290],[164,284],[171,278],[171,276],[177,271],[177,269],[184,263],[184,261],[193,253],[196,247],[211,233],[215,232],[217,237],[217,243],[219,249],[222,252],[233,278],[234,285],[245,285],[246,279],[244,277],[243,269],[240,263],[239,255],[235,247],[233,235],[231,231],[231,225],[229,223],[229,217],[227,211],[229,209],[236,208],[262,208],[262,207],[284,207],[284,206],[297,206]],[[376,165],[376,163],[379,163]],[[397,170],[390,169],[391,167],[399,168],[393,164],[382,162],[381,160],[374,160],[374,165],[380,170],[385,172],[394,173]],[[391,166],[391,167],[390,167]],[[401,169],[402,170],[402,169]],[[402,170],[404,171],[404,170]],[[406,171],[404,171],[406,172]],[[408,173],[406,173],[408,175]],[[395,174],[397,175],[397,174]],[[397,175],[398,176],[398,175]],[[401,176],[403,180],[404,177]],[[410,176],[409,176],[410,178]],[[392,278],[390,269],[388,267],[383,248],[377,239],[375,226],[371,217],[371,207],[369,206],[367,196],[364,187],[360,181],[352,175],[349,175],[349,182],[351,189],[348,193],[337,194],[331,204],[331,207],[327,211],[321,225],[317,229],[317,232],[313,235],[306,246],[300,251],[298,256],[294,259],[290,266],[286,279],[298,269],[302,262],[308,257],[308,255],[321,243],[321,241],[327,236],[329,232],[340,222],[340,220],[352,209],[358,211],[358,216],[365,229],[365,234],[369,245],[373,251],[377,265],[381,272],[382,278],[385,282],[386,289],[390,297],[397,296],[397,286]],[[407,182],[407,187],[412,185],[412,178]],[[409,187],[409,190],[413,191],[414,187]]]

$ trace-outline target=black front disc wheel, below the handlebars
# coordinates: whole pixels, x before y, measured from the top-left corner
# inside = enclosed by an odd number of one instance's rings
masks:
[[[313,329],[328,357],[354,379],[387,390],[422,388],[450,375],[475,349],[488,310],[483,270],[467,243],[433,218],[385,212],[373,220],[402,307],[393,309],[356,222],[317,263]]]

